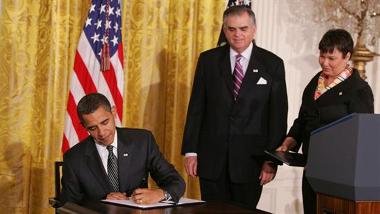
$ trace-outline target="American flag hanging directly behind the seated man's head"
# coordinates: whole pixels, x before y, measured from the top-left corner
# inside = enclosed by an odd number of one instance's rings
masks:
[[[74,70],[65,114],[62,152],[88,136],[76,113],[86,94],[104,94],[116,106],[116,124],[123,110],[123,45],[119,0],[92,0],[75,54]]]

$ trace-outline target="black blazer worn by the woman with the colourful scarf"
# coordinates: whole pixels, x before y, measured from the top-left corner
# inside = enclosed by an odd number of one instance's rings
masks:
[[[351,113],[374,111],[372,90],[357,70],[353,70],[349,78],[314,100],[320,74],[321,72],[316,74],[306,86],[298,118],[288,133],[288,136],[297,141],[298,148],[303,144],[302,152],[305,155],[308,154],[310,133],[313,130]]]

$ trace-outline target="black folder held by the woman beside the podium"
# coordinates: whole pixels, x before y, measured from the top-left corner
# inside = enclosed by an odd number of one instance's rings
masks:
[[[274,162],[284,163],[288,166],[300,166],[306,165],[306,158],[303,154],[295,152],[280,152],[280,151],[267,151],[265,153],[271,157]]]

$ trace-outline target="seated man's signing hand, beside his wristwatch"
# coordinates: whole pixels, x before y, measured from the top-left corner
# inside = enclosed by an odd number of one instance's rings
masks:
[[[131,199],[136,204],[153,204],[162,201],[165,198],[162,189],[139,188],[133,191]]]

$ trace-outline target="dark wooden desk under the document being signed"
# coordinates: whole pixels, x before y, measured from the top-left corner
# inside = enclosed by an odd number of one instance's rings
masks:
[[[64,206],[58,208],[59,214],[192,214],[192,213],[254,213],[254,214],[268,214],[268,212],[261,210],[248,210],[242,207],[220,203],[209,202],[204,204],[182,205],[176,207],[166,208],[153,208],[153,209],[137,209],[126,206],[118,206],[113,204],[105,204],[101,202],[86,203],[81,206],[74,203],[66,203]]]

